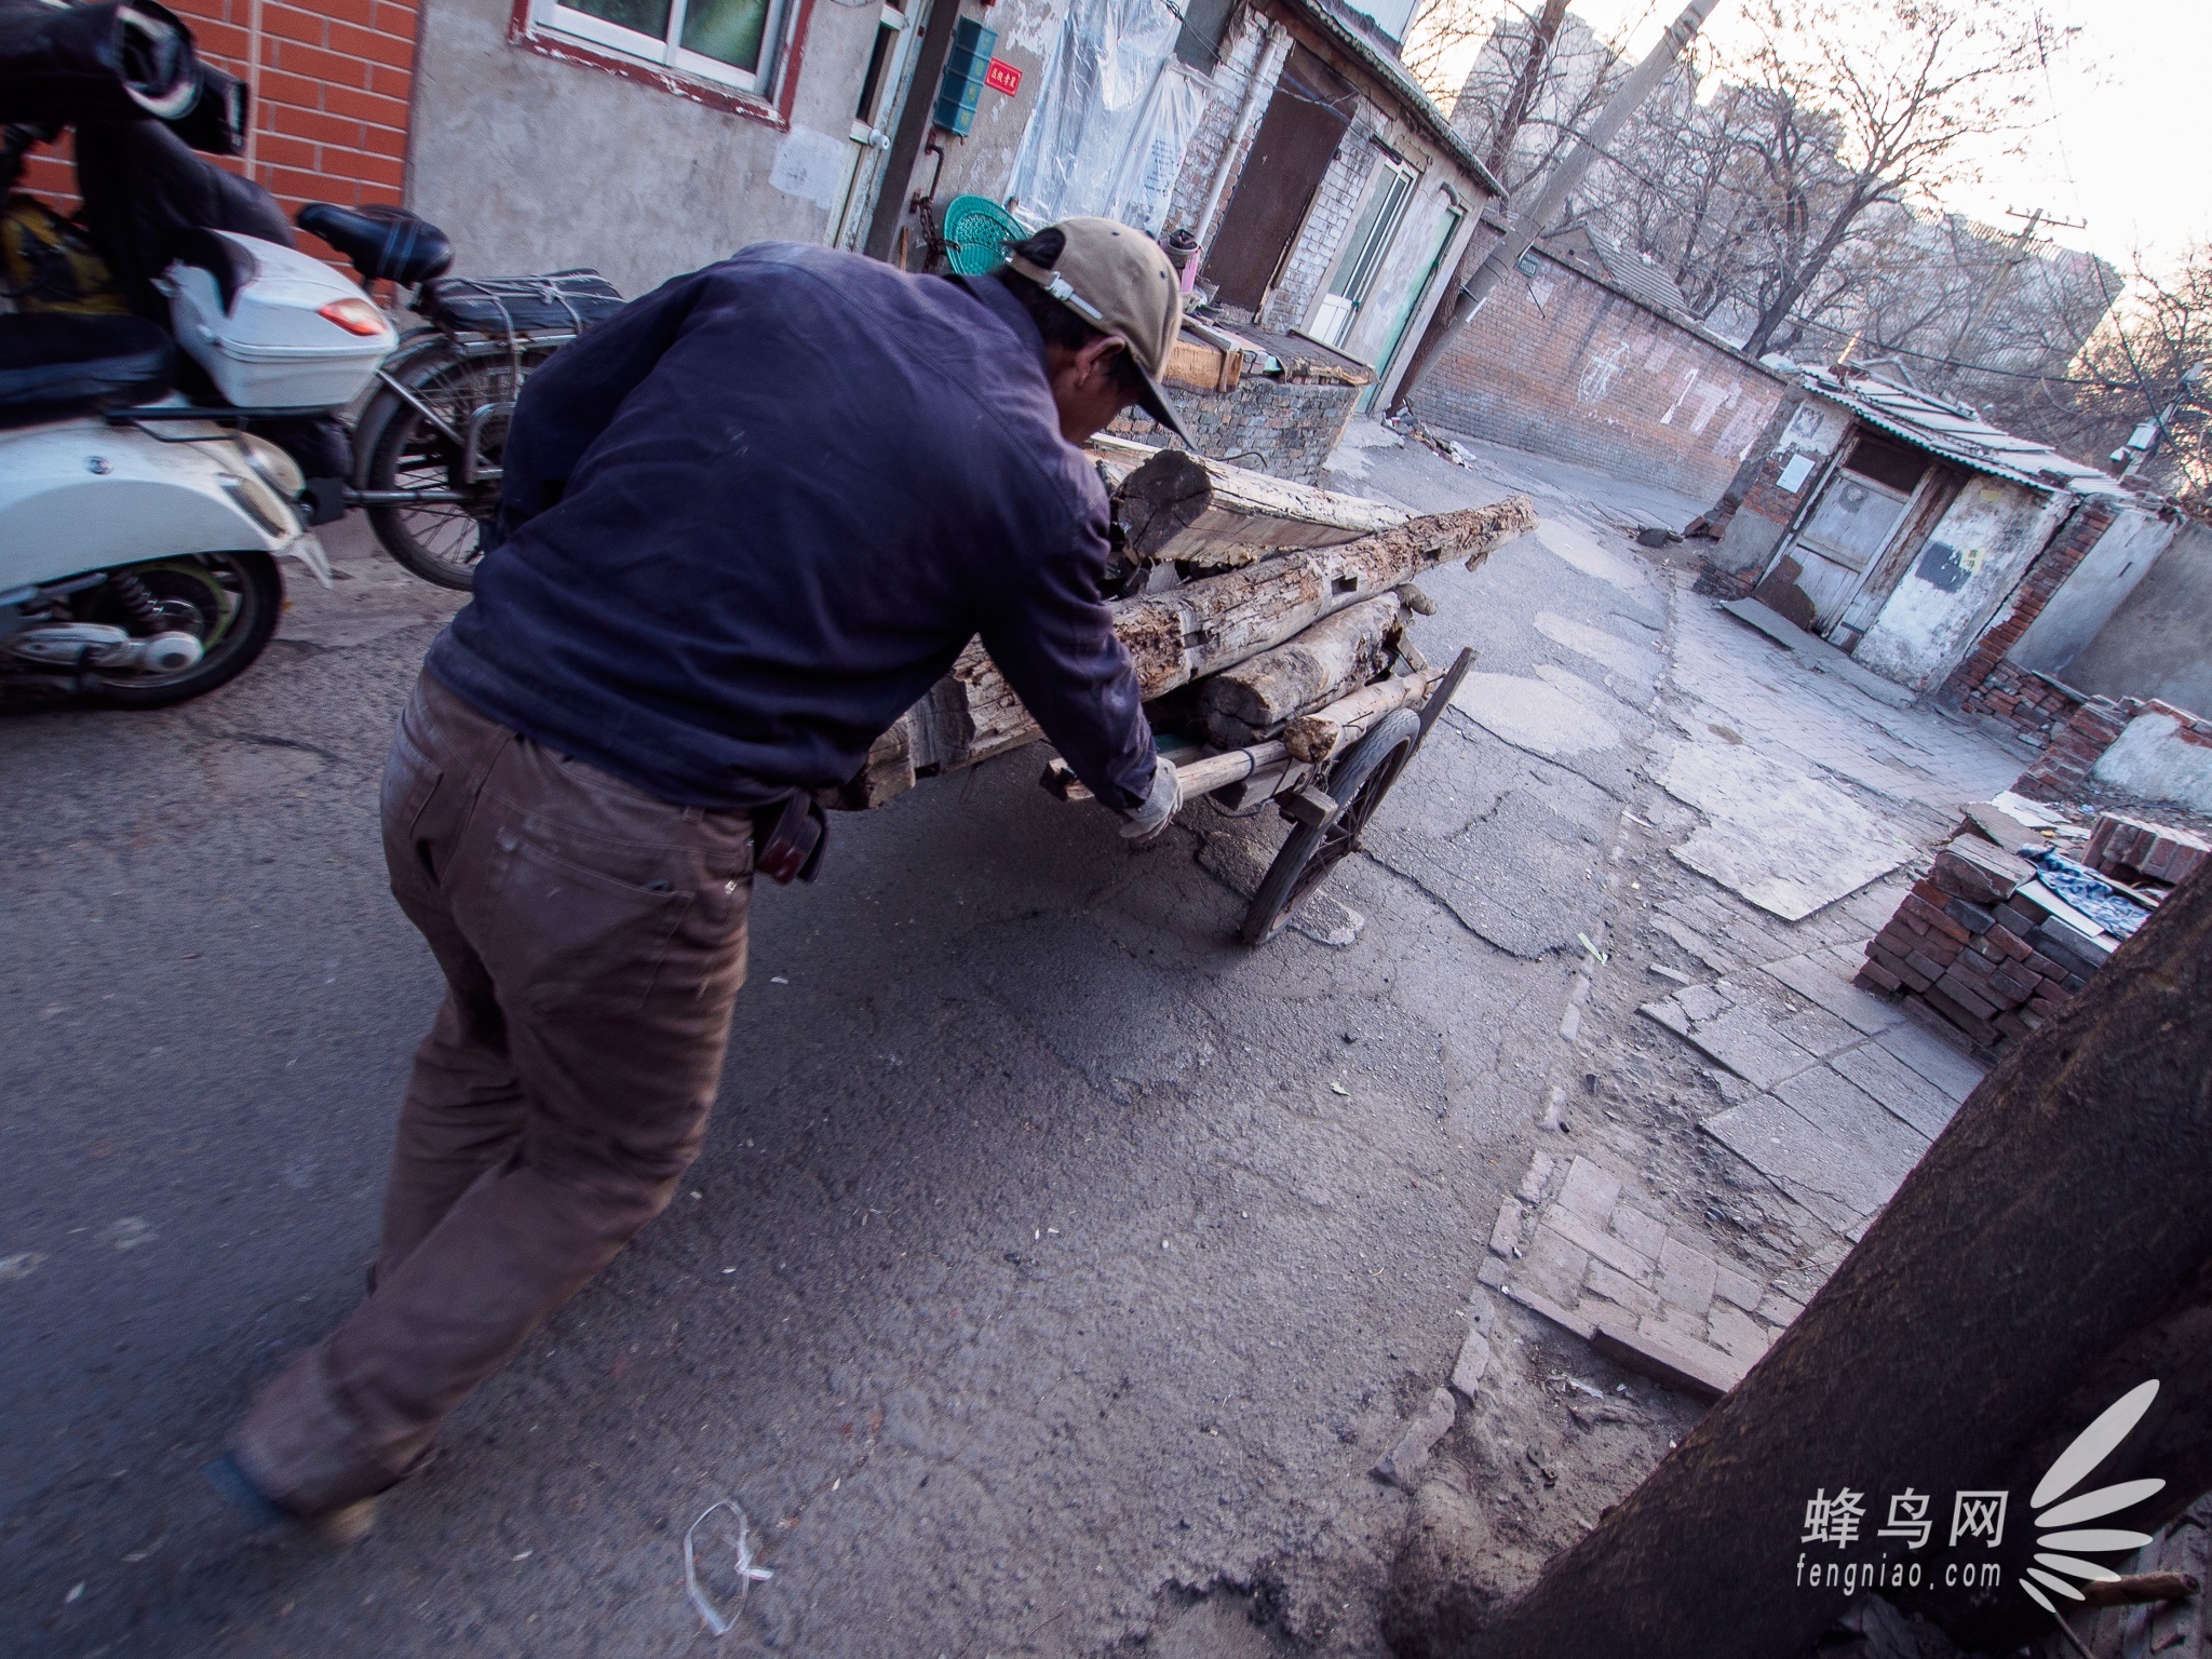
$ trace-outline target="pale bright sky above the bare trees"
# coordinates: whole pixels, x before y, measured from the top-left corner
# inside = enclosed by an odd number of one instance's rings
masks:
[[[1681,9],[1679,0],[1575,0],[1601,35],[1630,29],[1641,53]],[[1991,155],[1978,188],[1944,206],[2011,226],[2006,208],[2086,219],[2048,234],[2090,248],[2121,270],[2135,248],[2172,261],[2192,237],[2212,239],[2212,166],[2205,166],[2203,64],[2212,62],[2212,7],[2203,0],[2046,0],[2057,27],[2079,27],[2051,69],[2051,119],[2026,155]],[[1739,0],[1721,0],[1708,33],[1725,46],[1741,29]]]

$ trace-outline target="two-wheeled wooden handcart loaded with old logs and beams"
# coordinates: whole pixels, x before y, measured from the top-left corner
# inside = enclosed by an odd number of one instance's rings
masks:
[[[1183,796],[1232,812],[1272,801],[1290,818],[1239,929],[1261,945],[1358,849],[1473,659],[1436,670],[1405,639],[1405,613],[1431,608],[1413,577],[1444,560],[1473,568],[1535,529],[1535,511],[1513,495],[1413,515],[1181,449],[1097,438],[1091,451],[1115,504],[1115,633]],[[1040,737],[969,644],[823,803],[876,807]],[[1044,785],[1088,799],[1057,759]]]

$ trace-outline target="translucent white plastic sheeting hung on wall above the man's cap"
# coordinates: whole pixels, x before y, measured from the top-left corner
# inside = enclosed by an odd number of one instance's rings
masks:
[[[1164,230],[1206,84],[1170,62],[1181,18],[1161,0],[1071,0],[1011,199],[1022,219],[1104,215]]]

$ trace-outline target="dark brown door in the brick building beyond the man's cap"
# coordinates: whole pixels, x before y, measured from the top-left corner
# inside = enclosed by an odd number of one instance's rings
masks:
[[[1256,312],[1274,285],[1305,210],[1352,126],[1352,88],[1305,46],[1292,46],[1267,113],[1252,137],[1252,157],[1214,230],[1199,274],[1223,305]]]

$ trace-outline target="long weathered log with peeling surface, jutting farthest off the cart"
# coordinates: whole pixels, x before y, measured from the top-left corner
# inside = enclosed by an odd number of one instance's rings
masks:
[[[1444,560],[1464,557],[1467,568],[1473,568],[1533,529],[1535,509],[1526,495],[1407,520],[1358,542],[1303,549],[1186,582],[1170,593],[1124,599],[1115,606],[1115,635],[1150,701],[1201,675],[1256,657]],[[1037,723],[980,641],[960,653],[953,670],[900,717],[900,726],[898,737],[887,732],[869,752],[867,774],[880,776],[885,785],[896,785],[909,765],[914,776],[933,776],[989,761],[1040,737]],[[898,745],[905,752],[894,761],[889,752]],[[841,792],[838,803],[845,799]],[[887,799],[889,794],[865,799],[858,805],[883,805]]]

